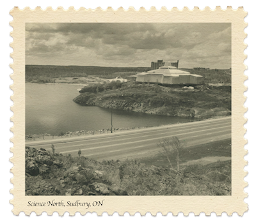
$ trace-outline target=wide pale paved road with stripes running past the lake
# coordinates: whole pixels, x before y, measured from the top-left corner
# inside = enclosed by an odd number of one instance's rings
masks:
[[[187,146],[231,138],[231,117],[112,134],[27,142],[26,146],[51,150],[53,143],[56,153],[77,156],[78,150],[81,149],[81,156],[98,161],[124,160],[156,154],[160,150],[157,142],[161,138],[173,136],[184,140]]]

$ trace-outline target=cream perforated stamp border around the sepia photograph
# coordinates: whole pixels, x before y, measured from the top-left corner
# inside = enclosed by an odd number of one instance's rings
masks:
[[[10,204],[13,205],[12,213],[19,215],[24,212],[30,215],[35,212],[40,215],[46,212],[47,215],[57,212],[59,216],[63,216],[68,212],[74,216],[76,212],[86,214],[97,213],[101,215],[106,212],[109,215],[117,212],[119,215],[124,215],[128,212],[134,215],[139,212],[141,215],[151,213],[156,216],[161,212],[164,216],[172,213],[177,216],[178,213],[183,213],[188,216],[189,213],[199,215],[211,215],[216,213],[221,215],[227,213],[231,216],[237,213],[239,216],[248,211],[248,205],[244,203],[244,198],[248,195],[244,192],[247,186],[244,182],[244,177],[247,172],[244,171],[244,166],[247,162],[244,160],[244,155],[247,153],[244,150],[244,145],[247,143],[244,140],[244,133],[246,130],[243,125],[246,123],[244,113],[244,101],[246,97],[243,95],[246,91],[244,80],[246,76],[243,75],[246,66],[244,59],[246,59],[244,49],[247,45],[244,43],[246,33],[244,28],[247,23],[244,22],[247,12],[242,7],[233,10],[231,6],[222,10],[220,6],[211,10],[208,6],[204,10],[198,7],[193,10],[183,8],[179,10],[172,8],[167,10],[165,7],[161,10],[156,10],[155,7],[146,10],[140,8],[135,10],[132,6],[129,10],[124,8],[108,7],[106,10],[101,8],[84,9],[79,8],[75,10],[74,7],[64,10],[58,7],[52,10],[51,7],[42,10],[41,8],[24,8],[20,10],[18,7],[10,11],[13,21],[10,26],[13,31],[10,35],[13,42],[10,46],[13,48],[13,53],[10,55],[13,58],[13,63],[10,65],[13,69],[13,74],[10,77],[13,79],[13,85],[10,88],[13,90],[11,99],[13,106],[13,127],[11,131],[14,137],[11,139],[13,147],[10,149],[13,157],[10,161],[13,167],[10,172],[13,173],[11,183],[13,189],[10,193],[13,194],[13,199]],[[25,24],[26,22],[230,22],[232,24],[232,195],[231,196],[25,196]],[[31,207],[28,206],[28,201],[47,202],[49,200],[65,200],[75,202],[76,200],[83,200],[84,202],[102,201],[104,204],[100,207],[91,207],[85,209],[84,207]]]

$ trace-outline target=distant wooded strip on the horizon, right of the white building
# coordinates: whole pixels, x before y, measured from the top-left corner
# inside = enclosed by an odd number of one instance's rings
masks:
[[[202,75],[205,78],[205,83],[231,84],[231,70],[195,70],[189,68],[180,68],[180,70],[189,71],[191,74]]]

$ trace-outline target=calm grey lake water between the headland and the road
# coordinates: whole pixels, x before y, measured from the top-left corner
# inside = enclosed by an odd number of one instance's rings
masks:
[[[61,131],[102,130],[111,128],[111,109],[84,107],[72,101],[83,86],[72,84],[26,83],[26,134]],[[113,110],[113,128],[159,126],[193,121],[188,117],[170,117]]]

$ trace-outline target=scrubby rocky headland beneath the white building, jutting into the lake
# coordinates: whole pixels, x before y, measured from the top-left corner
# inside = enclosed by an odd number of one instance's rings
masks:
[[[163,87],[120,82],[98,84],[81,89],[74,101],[80,105],[131,110],[147,114],[197,117],[230,116],[231,87]]]

